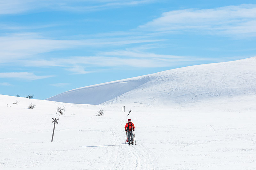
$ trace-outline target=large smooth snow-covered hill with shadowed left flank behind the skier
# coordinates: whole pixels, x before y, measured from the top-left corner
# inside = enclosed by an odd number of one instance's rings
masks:
[[[256,57],[196,65],[63,92],[46,100],[79,104],[194,105],[256,94]],[[252,96],[253,95],[253,96]],[[254,98],[255,99],[255,98]]]

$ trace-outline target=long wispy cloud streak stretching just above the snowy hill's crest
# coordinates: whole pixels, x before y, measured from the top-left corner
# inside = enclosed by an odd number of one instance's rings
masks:
[[[97,56],[72,56],[68,58],[51,59],[49,61],[44,60],[41,61],[41,63],[48,63],[49,66],[54,65],[61,67],[62,69],[70,71],[71,74],[86,74],[95,71],[95,69],[106,67],[171,67],[182,62],[195,61],[218,61],[218,59],[200,58],[193,56],[163,55],[138,50],[132,51],[132,49],[128,49],[115,50],[112,52],[100,52]],[[88,71],[85,70],[85,68],[92,70]]]

